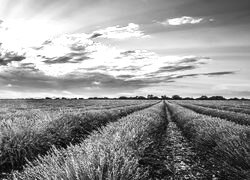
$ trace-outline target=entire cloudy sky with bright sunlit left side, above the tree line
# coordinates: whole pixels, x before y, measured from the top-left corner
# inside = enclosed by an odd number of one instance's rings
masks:
[[[0,98],[250,98],[249,0],[0,1]]]

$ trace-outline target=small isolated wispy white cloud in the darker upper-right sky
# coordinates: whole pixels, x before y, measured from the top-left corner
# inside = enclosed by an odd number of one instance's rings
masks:
[[[185,24],[199,24],[204,21],[204,18],[199,17],[190,17],[190,16],[182,16],[178,18],[167,19],[166,21],[159,22],[160,24],[167,26],[179,26]]]

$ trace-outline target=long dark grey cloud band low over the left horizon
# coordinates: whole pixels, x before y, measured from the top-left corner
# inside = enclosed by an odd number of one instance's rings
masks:
[[[103,73],[71,73],[63,77],[47,76],[32,69],[14,69],[0,73],[0,82],[11,83],[17,90],[76,90],[97,86],[101,89],[138,89],[146,87],[143,80],[125,81]]]

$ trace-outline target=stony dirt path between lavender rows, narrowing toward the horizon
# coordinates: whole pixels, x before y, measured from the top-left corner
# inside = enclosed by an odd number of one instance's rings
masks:
[[[218,179],[219,172],[214,165],[207,162],[207,157],[197,154],[192,144],[171,120],[168,110],[165,126],[159,131],[155,136],[155,142],[145,150],[140,160],[140,164],[149,171],[147,179]]]

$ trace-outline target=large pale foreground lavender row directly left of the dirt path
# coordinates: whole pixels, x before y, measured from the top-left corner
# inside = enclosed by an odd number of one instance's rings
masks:
[[[75,146],[56,149],[13,179],[146,179],[147,170],[139,162],[165,121],[165,104],[135,112],[109,123]]]

